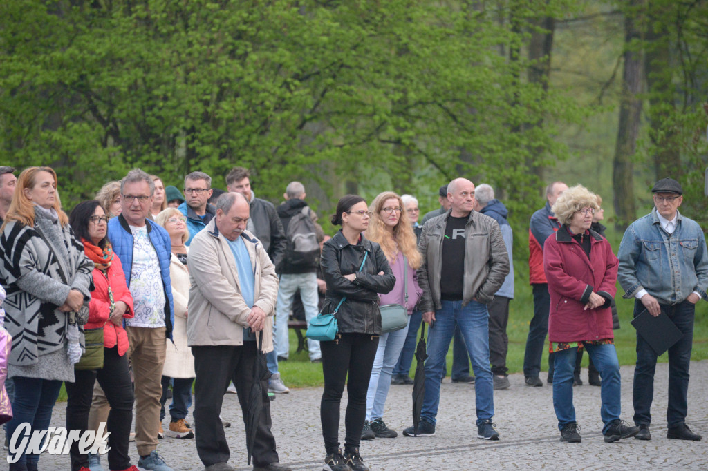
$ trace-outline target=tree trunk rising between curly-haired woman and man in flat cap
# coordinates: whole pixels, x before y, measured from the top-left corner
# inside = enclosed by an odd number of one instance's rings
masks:
[[[632,6],[640,2],[632,1]],[[636,18],[624,19],[624,73],[622,75],[622,96],[619,105],[619,124],[617,126],[617,144],[615,160],[612,165],[612,186],[615,188],[615,227],[624,231],[630,222],[636,219],[634,204],[634,164],[632,157],[636,151],[641,117],[641,79],[643,75],[643,54],[634,51],[630,43],[639,38]]]

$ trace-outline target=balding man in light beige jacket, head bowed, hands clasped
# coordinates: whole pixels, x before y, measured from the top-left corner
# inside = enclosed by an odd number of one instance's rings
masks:
[[[273,312],[278,296],[275,266],[261,242],[246,231],[249,203],[226,193],[216,217],[192,240],[187,341],[192,347],[195,381],[194,419],[197,453],[208,471],[233,470],[219,421],[224,391],[234,381],[246,417],[257,356],[256,335],[263,331],[263,352],[273,350]],[[263,390],[268,380],[261,381]],[[263,401],[253,445],[253,470],[286,471],[278,463],[270,431],[270,401]]]

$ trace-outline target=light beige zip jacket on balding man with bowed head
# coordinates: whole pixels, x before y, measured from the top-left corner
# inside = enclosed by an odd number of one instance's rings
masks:
[[[275,265],[261,241],[249,231],[241,235],[251,257],[256,281],[253,306],[268,318],[263,329],[263,351],[273,350],[273,315],[278,297]],[[251,308],[241,296],[239,272],[227,238],[219,233],[216,219],[192,239],[187,258],[189,267],[189,316],[187,343],[190,347],[244,344],[244,327]]]

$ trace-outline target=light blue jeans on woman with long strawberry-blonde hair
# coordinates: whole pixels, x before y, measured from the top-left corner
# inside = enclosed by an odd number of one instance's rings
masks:
[[[408,318],[411,325],[411,318]],[[384,417],[384,404],[391,388],[391,374],[396,366],[396,360],[401,356],[401,349],[406,342],[408,327],[395,332],[388,332],[379,337],[379,346],[374,357],[374,366],[369,380],[369,389],[366,392],[366,419],[380,419]]]

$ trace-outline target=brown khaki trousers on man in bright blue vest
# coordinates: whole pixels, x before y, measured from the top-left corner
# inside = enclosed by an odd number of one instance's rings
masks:
[[[165,327],[125,327],[127,354],[135,376],[135,446],[141,456],[157,448],[162,396],[162,367],[165,363]]]

